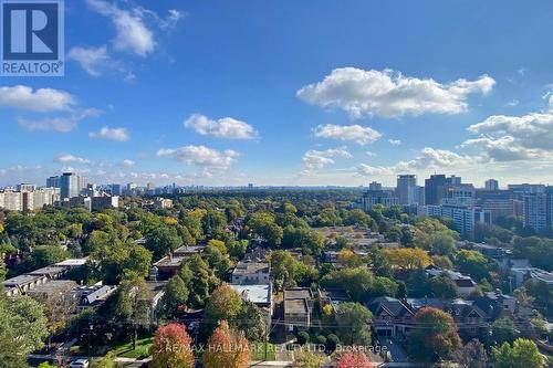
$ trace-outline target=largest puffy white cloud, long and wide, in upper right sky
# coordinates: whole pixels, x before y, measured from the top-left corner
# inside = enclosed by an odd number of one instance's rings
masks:
[[[482,75],[476,81],[442,84],[432,78],[404,76],[393,70],[335,69],[322,82],[298,91],[298,97],[323,108],[342,108],[352,117],[459,114],[468,109],[470,94],[488,94],[495,81]]]

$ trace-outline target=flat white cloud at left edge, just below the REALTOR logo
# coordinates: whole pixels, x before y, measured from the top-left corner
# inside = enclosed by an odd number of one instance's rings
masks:
[[[0,87],[0,107],[45,113],[70,111],[75,103],[75,97],[61,90],[33,91],[32,87],[25,85]]]

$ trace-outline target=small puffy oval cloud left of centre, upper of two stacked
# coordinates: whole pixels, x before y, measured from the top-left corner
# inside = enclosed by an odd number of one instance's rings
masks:
[[[257,132],[251,125],[232,117],[212,120],[205,115],[194,114],[185,120],[184,125],[200,135],[217,138],[252,139],[257,136]]]

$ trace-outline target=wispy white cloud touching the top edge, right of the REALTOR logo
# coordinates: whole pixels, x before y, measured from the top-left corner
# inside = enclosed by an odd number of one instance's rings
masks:
[[[154,33],[146,27],[140,8],[124,10],[102,0],[87,0],[87,3],[112,20],[117,32],[113,40],[116,50],[133,52],[139,56],[146,56],[154,51]]]

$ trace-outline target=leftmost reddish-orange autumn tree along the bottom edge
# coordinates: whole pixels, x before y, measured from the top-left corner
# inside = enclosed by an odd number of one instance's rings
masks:
[[[191,338],[180,324],[159,327],[150,348],[153,368],[191,368],[195,365]]]

